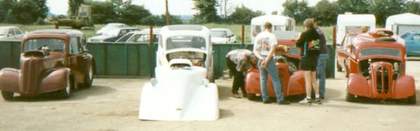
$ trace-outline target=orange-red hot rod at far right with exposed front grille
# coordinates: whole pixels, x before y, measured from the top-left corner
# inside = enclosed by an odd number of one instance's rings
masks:
[[[405,75],[402,39],[390,30],[377,29],[358,34],[349,48],[347,101],[353,102],[360,96],[416,103],[414,78]]]

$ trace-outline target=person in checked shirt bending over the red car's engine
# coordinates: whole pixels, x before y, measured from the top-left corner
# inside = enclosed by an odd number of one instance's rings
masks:
[[[228,65],[230,74],[233,75],[232,97],[241,98],[238,93],[241,88],[242,96],[246,97],[245,90],[245,71],[246,64],[251,63],[252,52],[246,49],[231,50],[226,55],[226,65]]]

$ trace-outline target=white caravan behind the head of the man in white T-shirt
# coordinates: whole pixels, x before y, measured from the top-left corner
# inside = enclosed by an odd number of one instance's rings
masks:
[[[295,31],[295,19],[282,15],[262,15],[251,20],[251,42],[253,43],[255,36],[262,32],[265,22],[273,25],[272,32]]]

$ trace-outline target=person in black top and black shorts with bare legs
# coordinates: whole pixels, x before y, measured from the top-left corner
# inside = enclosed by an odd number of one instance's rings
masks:
[[[296,46],[301,49],[300,55],[302,56],[302,60],[300,61],[300,68],[303,70],[307,97],[299,103],[311,104],[311,90],[314,88],[316,94],[315,103],[321,104],[318,83],[316,82],[316,62],[318,60],[318,53],[316,48],[314,48],[314,43],[319,41],[319,35],[314,29],[314,20],[304,20],[304,29],[305,31],[300,34],[299,39],[296,41]]]

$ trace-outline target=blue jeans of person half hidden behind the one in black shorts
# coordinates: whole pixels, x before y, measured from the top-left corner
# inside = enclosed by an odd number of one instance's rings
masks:
[[[316,77],[319,79],[319,96],[325,97],[325,68],[327,67],[328,53],[318,55],[316,64]]]

